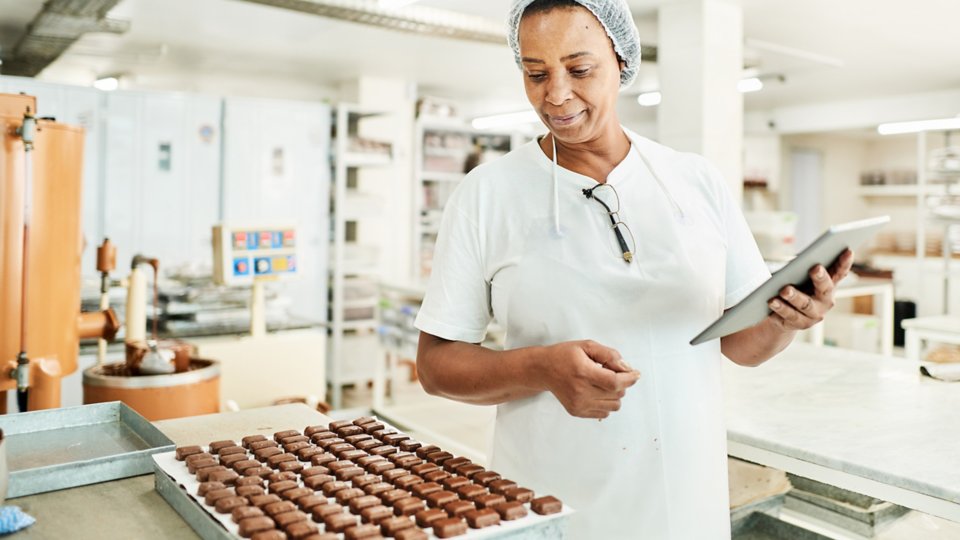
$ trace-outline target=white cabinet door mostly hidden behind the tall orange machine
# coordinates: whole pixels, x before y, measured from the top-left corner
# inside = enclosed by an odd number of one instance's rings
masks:
[[[81,272],[85,276],[97,275],[97,245],[103,240],[100,219],[103,187],[100,175],[103,93],[93,88],[44,83],[24,77],[0,77],[0,92],[23,92],[34,96],[37,98],[38,116],[53,117],[58,122],[84,129],[81,226],[86,248],[83,251]]]

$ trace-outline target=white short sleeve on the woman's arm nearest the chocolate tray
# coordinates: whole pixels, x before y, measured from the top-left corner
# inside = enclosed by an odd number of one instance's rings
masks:
[[[477,205],[469,199],[458,189],[444,209],[433,271],[414,324],[439,338],[480,343],[492,318],[490,285],[484,277],[480,230],[470,216]]]

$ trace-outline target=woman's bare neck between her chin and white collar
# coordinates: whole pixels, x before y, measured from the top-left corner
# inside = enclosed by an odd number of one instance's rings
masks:
[[[540,141],[540,148],[553,159],[553,134]],[[630,152],[630,139],[619,123],[612,123],[609,129],[594,139],[568,144],[560,139],[557,144],[557,163],[570,171],[605,183],[607,176],[627,157]]]

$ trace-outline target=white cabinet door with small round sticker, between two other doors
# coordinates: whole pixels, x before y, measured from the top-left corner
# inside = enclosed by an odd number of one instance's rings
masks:
[[[137,253],[161,268],[211,261],[220,201],[220,100],[107,94],[103,233],[123,269]]]

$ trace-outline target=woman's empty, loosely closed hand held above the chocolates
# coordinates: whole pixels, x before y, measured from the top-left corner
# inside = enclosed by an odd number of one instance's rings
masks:
[[[541,358],[547,389],[571,416],[603,419],[620,410],[620,400],[640,379],[620,353],[595,341],[568,341],[546,347]]]

